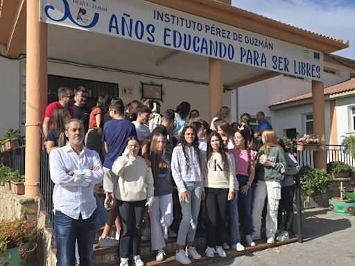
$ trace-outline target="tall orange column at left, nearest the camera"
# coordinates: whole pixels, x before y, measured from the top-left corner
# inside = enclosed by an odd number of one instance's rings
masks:
[[[47,104],[47,25],[39,21],[39,0],[26,1],[26,165],[25,194],[38,195],[40,130]]]

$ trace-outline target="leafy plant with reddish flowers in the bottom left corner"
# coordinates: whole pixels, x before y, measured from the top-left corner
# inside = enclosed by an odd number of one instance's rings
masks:
[[[28,248],[24,249],[24,244]],[[37,223],[28,222],[24,218],[0,221],[0,258],[6,258],[7,249],[17,247],[20,258],[35,251],[37,247]]]

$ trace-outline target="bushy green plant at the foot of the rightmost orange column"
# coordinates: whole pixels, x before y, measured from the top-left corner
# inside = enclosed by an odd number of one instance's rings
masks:
[[[310,166],[302,167],[297,177],[300,177],[302,189],[308,196],[326,193],[333,179],[323,169],[311,168]]]

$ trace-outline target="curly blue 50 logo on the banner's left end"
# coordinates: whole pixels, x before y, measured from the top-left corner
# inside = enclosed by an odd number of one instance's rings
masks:
[[[63,4],[64,4],[64,15],[63,15],[63,17],[61,19],[55,19],[51,15],[49,15],[49,10],[55,10],[55,8],[53,6],[47,5],[44,8],[44,13],[46,14],[47,17],[49,17],[49,19],[52,19],[53,21],[57,21],[57,22],[62,22],[62,21],[66,20],[68,18],[68,19],[71,20],[71,22],[73,22],[73,24],[75,24],[76,26],[79,26],[81,28],[92,28],[92,27],[94,27],[97,24],[98,16],[99,16],[98,13],[95,13],[94,19],[92,20],[92,22],[89,25],[78,24],[78,22],[76,20],[83,21],[85,24],[88,23],[89,19],[87,19],[87,16],[85,15],[86,14],[86,10],[84,8],[80,8],[79,12],[78,12],[77,19],[73,19],[73,16],[71,16],[71,12],[70,12],[70,7],[69,7],[68,1],[67,0],[62,0],[62,1],[63,1]],[[92,0],[92,1],[96,2],[96,0]]]

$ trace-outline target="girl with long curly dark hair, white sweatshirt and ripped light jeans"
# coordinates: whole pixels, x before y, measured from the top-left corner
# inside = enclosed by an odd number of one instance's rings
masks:
[[[173,150],[171,172],[178,187],[182,212],[175,259],[182,264],[190,264],[189,257],[202,258],[193,247],[193,240],[195,240],[203,187],[198,137],[196,131],[189,125],[182,130],[180,143]],[[187,251],[185,252],[186,240]]]

